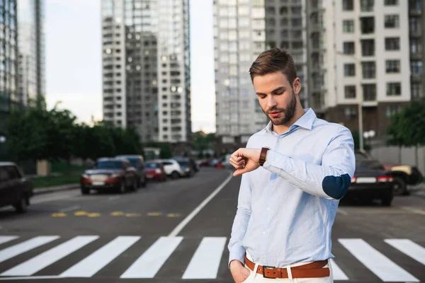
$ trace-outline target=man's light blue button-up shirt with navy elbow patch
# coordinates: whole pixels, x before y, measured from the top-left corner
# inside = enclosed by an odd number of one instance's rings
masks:
[[[331,228],[356,168],[351,132],[310,108],[288,132],[271,126],[246,145],[271,150],[263,167],[242,175],[229,262],[244,262],[246,251],[272,267],[334,258]]]

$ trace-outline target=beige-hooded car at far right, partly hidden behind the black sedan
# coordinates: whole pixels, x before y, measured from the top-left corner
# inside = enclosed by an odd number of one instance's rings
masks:
[[[356,151],[356,154],[368,158],[370,161],[376,161],[370,154],[365,151]],[[422,182],[423,176],[416,166],[408,165],[383,165],[385,170],[390,171],[393,182],[392,188],[395,195],[409,195],[407,185],[418,185]]]

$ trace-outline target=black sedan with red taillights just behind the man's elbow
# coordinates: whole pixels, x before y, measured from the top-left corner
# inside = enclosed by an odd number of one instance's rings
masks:
[[[356,152],[356,171],[344,199],[380,200],[389,207],[393,198],[392,175],[384,166]]]

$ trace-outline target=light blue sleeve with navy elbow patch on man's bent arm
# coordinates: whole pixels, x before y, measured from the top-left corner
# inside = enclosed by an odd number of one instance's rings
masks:
[[[339,200],[356,170],[353,136],[346,127],[339,127],[324,151],[321,165],[269,150],[263,168],[311,195]]]

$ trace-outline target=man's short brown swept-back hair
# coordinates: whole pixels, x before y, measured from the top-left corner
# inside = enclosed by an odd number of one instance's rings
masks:
[[[259,54],[259,57],[249,68],[249,75],[251,75],[251,81],[254,81],[255,76],[273,74],[276,71],[281,71],[285,74],[292,86],[297,77],[297,70],[295,69],[293,57],[286,50],[273,48]]]

